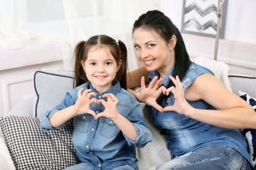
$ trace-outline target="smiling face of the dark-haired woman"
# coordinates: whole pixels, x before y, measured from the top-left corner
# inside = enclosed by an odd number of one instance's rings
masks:
[[[133,38],[135,55],[139,62],[149,72],[157,70],[161,77],[165,77],[175,60],[171,40],[166,43],[157,33],[143,28],[136,28]]]

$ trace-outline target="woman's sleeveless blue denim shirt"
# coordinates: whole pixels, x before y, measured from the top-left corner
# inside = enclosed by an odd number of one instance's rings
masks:
[[[173,70],[174,66],[165,77],[162,83],[164,86],[167,86],[169,83],[169,75],[172,74]],[[213,74],[209,69],[198,64],[191,63],[186,76],[181,82],[184,86],[184,91],[188,89],[199,75],[205,73]],[[159,72],[151,72],[149,81],[151,81],[155,76],[159,77]],[[166,100],[166,103],[161,103],[161,106],[172,106],[174,105],[174,102],[175,98],[172,94]],[[188,101],[188,103],[194,108],[216,109],[206,103],[206,101],[202,100]],[[214,125],[202,123],[174,111],[161,113],[151,106],[148,106],[148,111],[153,124],[161,129],[162,135],[166,136],[168,141],[167,147],[171,152],[171,157],[181,156],[203,146],[221,145],[235,148],[249,162],[251,162],[250,155],[247,152],[247,143],[239,130],[220,128]]]

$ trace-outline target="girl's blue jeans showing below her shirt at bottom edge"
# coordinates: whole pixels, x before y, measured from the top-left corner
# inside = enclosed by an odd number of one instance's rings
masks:
[[[112,170],[119,170],[119,169],[122,169],[122,170],[139,170],[139,167],[138,167],[137,163],[135,162],[132,165],[121,165],[121,166],[118,166],[118,167],[116,167]],[[94,169],[89,164],[80,163],[80,164],[70,166],[70,167],[68,167],[64,170],[94,170]]]

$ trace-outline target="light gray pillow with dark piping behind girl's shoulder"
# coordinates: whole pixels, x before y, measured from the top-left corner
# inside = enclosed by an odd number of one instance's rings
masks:
[[[46,111],[63,101],[66,92],[73,89],[73,74],[74,72],[71,71],[56,69],[39,69],[35,72],[34,118],[42,118]]]

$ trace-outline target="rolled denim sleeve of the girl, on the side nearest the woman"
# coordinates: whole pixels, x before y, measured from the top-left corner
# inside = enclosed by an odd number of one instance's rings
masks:
[[[127,119],[132,122],[137,131],[135,142],[124,135],[129,146],[144,147],[147,144],[147,142],[151,142],[152,135],[144,120],[142,106],[138,101],[134,103],[132,112],[129,113]]]

